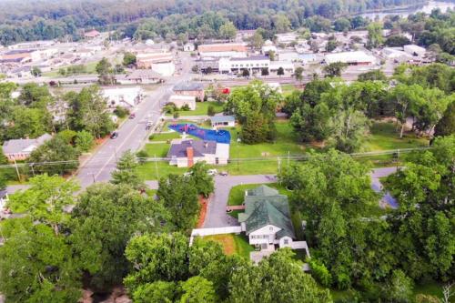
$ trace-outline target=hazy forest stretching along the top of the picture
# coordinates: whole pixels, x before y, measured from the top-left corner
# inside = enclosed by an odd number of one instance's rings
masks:
[[[306,25],[311,16],[334,19],[367,10],[397,5],[416,5],[410,0],[133,0],[133,1],[56,1],[37,0],[0,3],[0,43],[65,38],[77,40],[84,29],[120,29],[133,36],[149,18],[158,25],[177,26],[173,34],[191,37],[200,31],[217,33],[219,26],[231,22],[238,29],[276,29],[283,19],[292,28]],[[285,17],[285,18],[283,18]],[[149,21],[150,21],[149,20]],[[188,30],[189,29],[189,30]],[[162,35],[165,37],[165,35]],[[213,37],[213,36],[212,36]]]

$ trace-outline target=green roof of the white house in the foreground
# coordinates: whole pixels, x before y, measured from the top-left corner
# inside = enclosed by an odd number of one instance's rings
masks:
[[[273,225],[279,227],[277,237],[292,237],[294,227],[289,215],[288,197],[279,195],[278,190],[260,186],[247,191],[245,213],[239,214],[238,220],[245,222],[247,235],[261,227]]]

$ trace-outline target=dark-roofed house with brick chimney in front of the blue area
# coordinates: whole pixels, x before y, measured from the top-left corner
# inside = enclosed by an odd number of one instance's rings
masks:
[[[229,145],[216,141],[174,139],[167,157],[169,165],[177,167],[192,167],[202,161],[210,165],[227,165]]]

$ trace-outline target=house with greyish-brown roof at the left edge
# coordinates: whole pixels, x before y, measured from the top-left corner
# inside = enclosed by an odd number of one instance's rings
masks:
[[[42,146],[45,141],[51,138],[51,135],[45,134],[43,136],[38,136],[35,139],[25,138],[5,141],[3,144],[3,152],[9,161],[25,160],[30,157],[37,147]]]

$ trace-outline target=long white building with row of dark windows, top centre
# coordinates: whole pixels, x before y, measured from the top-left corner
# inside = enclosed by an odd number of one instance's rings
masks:
[[[250,75],[260,74],[262,68],[270,66],[270,59],[268,56],[248,56],[242,58],[220,58],[218,61],[218,69],[221,74],[228,73],[241,73],[243,70],[248,69]]]

